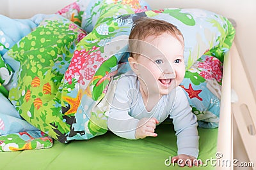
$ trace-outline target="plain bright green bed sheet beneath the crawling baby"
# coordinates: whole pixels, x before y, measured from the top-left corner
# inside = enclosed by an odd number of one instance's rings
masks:
[[[85,141],[62,144],[54,141],[52,148],[0,153],[0,169],[215,169],[166,166],[165,160],[176,155],[173,126],[157,126],[157,138],[128,140],[111,132]],[[215,159],[218,129],[198,128],[203,162]],[[168,161],[166,163],[169,163]]]

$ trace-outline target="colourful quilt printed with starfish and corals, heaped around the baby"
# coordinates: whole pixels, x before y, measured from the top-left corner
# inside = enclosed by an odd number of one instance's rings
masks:
[[[115,90],[109,82],[130,69],[127,38],[140,17],[166,20],[180,29],[187,68],[181,87],[199,125],[218,127],[221,64],[235,34],[227,18],[196,9],[150,10],[144,1],[80,0],[56,15],[26,20],[35,27],[0,48],[1,68],[9,78],[0,82],[6,83],[2,98],[19,118],[15,122],[31,126],[12,134],[0,117],[0,151],[49,148],[52,138],[67,143],[106,133],[108,99]],[[6,36],[3,28],[0,33]],[[19,141],[15,135],[27,140],[11,146]]]

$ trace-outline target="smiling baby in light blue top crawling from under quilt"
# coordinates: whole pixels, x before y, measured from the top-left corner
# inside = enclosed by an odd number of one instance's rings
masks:
[[[109,130],[127,139],[156,137],[156,125],[170,117],[178,146],[172,162],[185,166],[189,160],[189,166],[198,166],[193,164],[198,157],[196,116],[179,87],[185,74],[181,32],[163,20],[140,18],[132,27],[129,50],[131,71],[116,83]]]

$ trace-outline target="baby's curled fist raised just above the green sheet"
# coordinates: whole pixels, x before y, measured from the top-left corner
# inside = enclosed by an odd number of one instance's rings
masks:
[[[159,121],[156,118],[141,118],[140,122],[138,122],[137,125],[135,138],[143,139],[146,138],[147,136],[156,137],[156,124],[159,124]]]

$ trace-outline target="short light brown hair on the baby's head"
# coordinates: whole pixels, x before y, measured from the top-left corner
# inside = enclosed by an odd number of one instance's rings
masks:
[[[140,41],[143,41],[148,36],[160,36],[163,33],[170,33],[176,39],[180,41],[182,46],[184,46],[184,38],[182,33],[177,29],[177,27],[170,22],[166,22],[164,20],[157,20],[153,18],[142,17],[134,22],[132,25],[131,33],[129,36],[129,51],[130,56],[135,57],[136,55],[140,55],[139,53],[135,53],[140,48]]]

